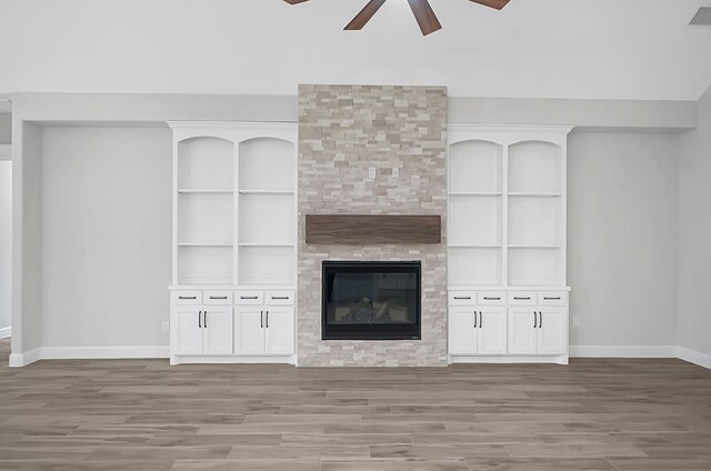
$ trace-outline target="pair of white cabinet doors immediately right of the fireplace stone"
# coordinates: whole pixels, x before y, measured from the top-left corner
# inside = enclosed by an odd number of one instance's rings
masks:
[[[449,352],[452,355],[507,353],[507,309],[455,307],[449,314]]]

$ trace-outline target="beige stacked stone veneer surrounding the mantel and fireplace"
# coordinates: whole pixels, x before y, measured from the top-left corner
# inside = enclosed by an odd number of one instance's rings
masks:
[[[440,214],[442,243],[307,244],[306,214],[329,213]],[[447,364],[445,214],[444,88],[299,88],[299,365]],[[321,340],[323,260],[421,260],[422,340]]]

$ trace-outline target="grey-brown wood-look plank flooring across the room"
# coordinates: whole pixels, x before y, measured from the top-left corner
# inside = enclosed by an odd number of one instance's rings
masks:
[[[711,371],[679,360],[7,368],[0,470],[711,470]]]

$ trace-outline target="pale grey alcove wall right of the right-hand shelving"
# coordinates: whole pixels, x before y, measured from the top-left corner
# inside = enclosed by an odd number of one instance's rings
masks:
[[[570,134],[571,345],[677,344],[677,146],[672,133]]]

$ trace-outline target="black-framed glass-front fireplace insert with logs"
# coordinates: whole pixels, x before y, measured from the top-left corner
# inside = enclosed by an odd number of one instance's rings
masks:
[[[324,261],[323,340],[419,340],[419,261]]]

